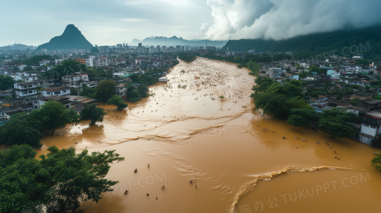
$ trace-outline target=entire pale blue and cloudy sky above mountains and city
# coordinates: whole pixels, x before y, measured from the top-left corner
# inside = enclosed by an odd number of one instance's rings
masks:
[[[381,0],[7,0],[0,46],[40,45],[74,24],[93,45],[151,36],[288,39],[381,24]]]

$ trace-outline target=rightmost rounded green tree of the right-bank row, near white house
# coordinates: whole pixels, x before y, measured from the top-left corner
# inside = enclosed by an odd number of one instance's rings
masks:
[[[355,134],[355,128],[348,124],[349,116],[338,108],[323,110],[318,127],[324,133],[330,134],[332,138],[350,137]]]

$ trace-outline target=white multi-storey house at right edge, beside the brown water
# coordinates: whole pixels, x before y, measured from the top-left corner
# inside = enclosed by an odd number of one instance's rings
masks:
[[[373,111],[365,113],[362,119],[359,141],[370,146],[373,145],[373,139],[381,133],[381,112]]]

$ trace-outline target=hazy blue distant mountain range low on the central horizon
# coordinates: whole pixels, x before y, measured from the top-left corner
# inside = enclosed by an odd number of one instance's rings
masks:
[[[216,46],[216,47],[223,47],[227,40],[186,40],[183,38],[177,38],[175,36],[167,38],[167,37],[148,37],[146,39],[143,39],[142,41],[139,39],[133,39],[131,42],[126,42],[128,45],[135,45],[137,46],[138,43],[142,43],[142,45],[147,46],[156,46],[156,45],[166,45],[166,46],[176,46],[176,45],[189,45],[189,46],[206,46],[206,42],[208,42],[208,46]]]

